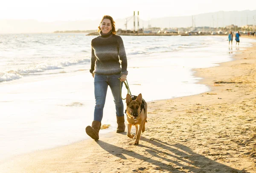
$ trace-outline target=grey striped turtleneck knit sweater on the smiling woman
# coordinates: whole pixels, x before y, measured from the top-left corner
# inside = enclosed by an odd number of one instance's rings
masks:
[[[111,32],[91,41],[92,55],[90,73],[97,75],[128,75],[125,46],[119,35]],[[120,64],[120,62],[121,64]],[[122,68],[121,68],[122,67]]]

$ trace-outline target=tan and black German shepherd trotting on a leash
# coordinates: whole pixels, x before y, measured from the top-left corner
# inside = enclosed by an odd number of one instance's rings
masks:
[[[133,97],[133,98],[132,98]],[[127,136],[136,139],[133,145],[138,145],[140,141],[141,132],[145,131],[145,123],[147,122],[148,105],[139,94],[137,97],[134,95],[126,95],[126,115],[127,115]],[[131,134],[131,126],[136,127],[136,134]]]

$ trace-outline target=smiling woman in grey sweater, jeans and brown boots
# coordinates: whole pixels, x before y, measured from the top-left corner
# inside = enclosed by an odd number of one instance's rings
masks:
[[[103,108],[108,86],[110,86],[116,105],[117,133],[125,131],[124,106],[120,95],[123,81],[126,80],[127,58],[122,38],[116,35],[115,22],[111,16],[105,15],[98,26],[99,36],[91,41],[91,68],[94,78],[94,95],[96,105],[92,126],[85,131],[94,140],[99,139]],[[120,64],[121,62],[121,64]]]

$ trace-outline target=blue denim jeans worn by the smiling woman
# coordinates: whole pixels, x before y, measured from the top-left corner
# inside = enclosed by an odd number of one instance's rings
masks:
[[[116,105],[116,115],[124,116],[124,105],[120,95],[120,80],[118,79],[120,77],[121,75],[94,75],[94,95],[96,101],[94,108],[94,121],[102,121],[108,86],[110,86],[114,103]]]

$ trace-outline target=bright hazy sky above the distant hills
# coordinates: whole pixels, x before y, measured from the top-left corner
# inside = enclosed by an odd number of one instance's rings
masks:
[[[255,0],[3,0],[0,4],[0,19],[35,19],[49,22],[95,20],[108,14],[115,20],[132,16],[133,11],[136,13],[140,11],[140,18],[149,20],[217,11],[255,10],[255,2]]]

